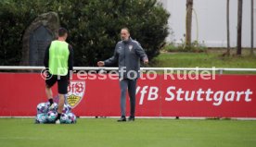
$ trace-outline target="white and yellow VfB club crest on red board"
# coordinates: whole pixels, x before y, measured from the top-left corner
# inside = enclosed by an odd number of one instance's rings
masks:
[[[85,81],[74,80],[70,81],[68,88],[67,103],[70,104],[71,108],[76,107],[82,99],[85,92]]]

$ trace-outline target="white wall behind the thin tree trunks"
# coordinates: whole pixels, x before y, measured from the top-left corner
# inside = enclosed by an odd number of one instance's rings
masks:
[[[168,42],[181,43],[186,32],[186,0],[160,0],[171,13],[173,35]],[[194,0],[198,14],[198,41],[207,46],[226,46],[226,0]],[[193,14],[192,40],[197,40],[197,21]],[[242,46],[250,47],[250,0],[243,1]],[[256,1],[254,0],[254,47],[256,46]],[[237,0],[230,0],[230,43],[237,46]]]

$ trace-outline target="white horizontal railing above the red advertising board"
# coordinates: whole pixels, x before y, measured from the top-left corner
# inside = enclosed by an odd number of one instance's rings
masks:
[[[0,70],[42,70],[45,67],[20,67],[20,66],[0,66]],[[118,67],[73,67],[74,70],[118,70]],[[228,67],[141,67],[141,70],[155,70],[155,71],[164,71],[164,70],[209,70],[219,72],[223,74],[224,71],[250,71],[256,72],[256,68],[228,68]]]

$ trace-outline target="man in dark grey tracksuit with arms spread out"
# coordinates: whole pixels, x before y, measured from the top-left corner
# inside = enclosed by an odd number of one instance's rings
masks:
[[[130,96],[131,111],[128,121],[134,121],[135,114],[135,94],[136,82],[139,78],[140,60],[145,64],[148,63],[147,55],[140,43],[130,37],[127,28],[121,31],[122,41],[116,44],[115,52],[112,57],[105,61],[97,62],[97,66],[110,66],[118,62],[119,78],[121,87],[121,118],[119,122],[126,121],[126,91],[128,89]]]

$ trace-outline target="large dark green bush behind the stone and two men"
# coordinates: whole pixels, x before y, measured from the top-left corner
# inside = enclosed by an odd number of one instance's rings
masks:
[[[0,9],[0,65],[19,65],[22,35],[45,12],[57,12],[70,31],[75,66],[96,66],[109,58],[122,27],[152,59],[164,45],[170,16],[156,0],[1,0]]]

